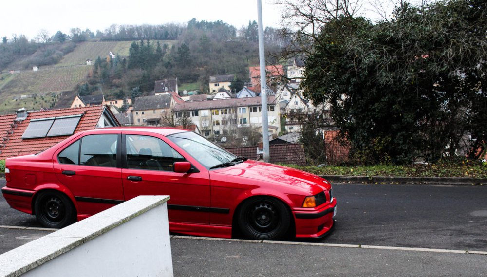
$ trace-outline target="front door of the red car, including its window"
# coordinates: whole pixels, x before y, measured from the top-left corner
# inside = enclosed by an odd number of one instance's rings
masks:
[[[138,195],[169,195],[170,222],[208,224],[208,172],[176,173],[175,162],[186,161],[163,136],[122,135],[122,182],[125,200]]]

